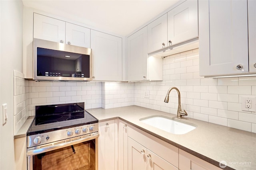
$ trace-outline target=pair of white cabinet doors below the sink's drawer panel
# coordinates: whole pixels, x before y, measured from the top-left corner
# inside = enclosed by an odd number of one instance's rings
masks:
[[[128,170],[178,170],[175,166],[128,137]]]

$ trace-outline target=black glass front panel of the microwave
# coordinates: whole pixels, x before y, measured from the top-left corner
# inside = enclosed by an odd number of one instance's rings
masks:
[[[90,77],[90,55],[37,47],[37,76]]]

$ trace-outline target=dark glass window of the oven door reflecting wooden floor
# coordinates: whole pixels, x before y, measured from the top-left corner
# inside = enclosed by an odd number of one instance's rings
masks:
[[[95,140],[34,155],[33,170],[95,170]]]

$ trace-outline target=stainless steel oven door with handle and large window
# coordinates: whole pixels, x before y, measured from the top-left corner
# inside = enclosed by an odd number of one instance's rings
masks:
[[[28,148],[28,170],[98,170],[98,136]]]

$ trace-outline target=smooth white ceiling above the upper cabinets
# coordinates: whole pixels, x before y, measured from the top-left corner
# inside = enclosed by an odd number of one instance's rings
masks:
[[[127,36],[178,0],[22,0],[35,8],[102,31]]]

